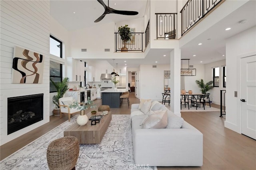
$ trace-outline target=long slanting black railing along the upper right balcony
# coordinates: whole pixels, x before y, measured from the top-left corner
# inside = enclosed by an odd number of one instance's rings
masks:
[[[223,0],[188,0],[181,13],[181,35]]]

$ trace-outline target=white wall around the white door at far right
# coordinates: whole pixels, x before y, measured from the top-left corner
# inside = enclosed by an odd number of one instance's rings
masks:
[[[241,133],[240,81],[243,75],[237,68],[240,56],[256,52],[256,27],[252,27],[226,41],[226,121],[225,127]],[[234,91],[238,97],[234,97]]]

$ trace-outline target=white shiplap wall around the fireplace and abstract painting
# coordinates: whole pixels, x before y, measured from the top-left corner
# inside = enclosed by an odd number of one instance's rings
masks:
[[[50,1],[0,1],[0,144],[49,122]],[[44,55],[42,84],[12,84],[14,46]],[[44,120],[7,135],[7,98],[44,93]]]

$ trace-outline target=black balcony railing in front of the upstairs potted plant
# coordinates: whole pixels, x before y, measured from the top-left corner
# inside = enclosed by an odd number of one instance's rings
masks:
[[[128,42],[123,42],[119,32],[115,32],[116,52],[117,51],[142,51],[143,47],[143,32],[131,32],[131,39]],[[124,49],[126,47],[127,49]]]

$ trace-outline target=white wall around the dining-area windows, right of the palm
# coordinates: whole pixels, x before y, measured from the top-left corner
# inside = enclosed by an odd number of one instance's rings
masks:
[[[222,67],[226,65],[226,60],[220,60],[220,61],[216,61],[213,63],[209,63],[209,64],[205,64],[204,65],[204,82],[208,82],[213,80],[213,75],[212,75],[212,69],[213,68],[217,68],[219,67],[220,69],[220,76],[219,76],[219,87],[214,87],[213,89],[211,89],[210,91],[208,91],[208,93],[210,94],[210,100],[212,101],[212,103],[220,105],[220,90],[226,90],[226,88],[223,87],[222,85]],[[227,70],[227,69],[226,69]],[[229,79],[228,76],[226,76],[227,79]],[[222,103],[224,104],[224,103]]]

